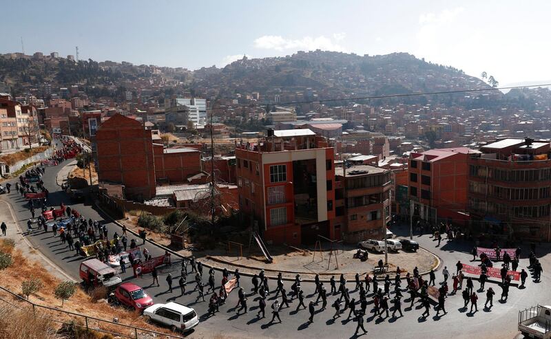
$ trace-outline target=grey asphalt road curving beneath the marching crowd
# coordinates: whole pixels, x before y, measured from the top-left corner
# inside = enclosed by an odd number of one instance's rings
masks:
[[[65,162],[66,164],[67,162]],[[63,166],[59,164],[56,167],[49,167],[46,169],[43,181],[45,186],[50,191],[49,201],[50,206],[59,206],[61,201],[64,204],[70,205],[75,208],[85,217],[85,219],[92,218],[107,224],[109,230],[109,237],[111,238],[114,232],[121,234],[121,229],[116,224],[109,221],[105,221],[104,216],[100,212],[94,210],[91,201],[87,201],[85,204],[72,204],[69,197],[56,185],[56,173]],[[14,181],[12,182],[14,184]],[[25,206],[25,200],[21,199],[19,193],[12,193],[10,195],[3,195],[1,199],[6,199],[12,204],[19,224],[22,230],[26,229],[26,222],[30,218],[30,212]],[[38,212],[39,210],[37,210]],[[406,226],[395,226],[393,232],[397,235],[405,236],[408,232]],[[63,245],[59,238],[52,237],[51,234],[45,234],[42,230],[36,230],[29,236],[31,243],[36,246],[45,256],[47,256],[54,263],[59,265],[67,274],[79,279],[79,265],[83,261],[83,257],[76,256],[74,251],[70,251],[66,245]],[[129,240],[132,236],[129,237]],[[450,242],[442,241],[441,247],[436,247],[436,243],[430,239],[427,235],[422,237],[415,236],[422,247],[437,254],[443,261],[444,265],[448,266],[450,272],[455,272],[455,263],[457,260],[461,260],[464,263],[468,263],[472,256],[468,254],[472,248],[472,243],[468,242]],[[141,244],[140,239],[136,239],[138,244]],[[162,255],[164,253],[160,248],[156,248],[151,243],[146,243],[145,247],[149,250],[152,256]],[[484,292],[479,292],[479,311],[475,314],[470,314],[468,309],[463,308],[463,301],[461,300],[461,294],[456,296],[449,296],[446,301],[446,309],[448,314],[446,316],[435,317],[436,311],[431,309],[430,316],[428,318],[421,318],[423,309],[418,303],[410,309],[408,306],[408,294],[404,293],[404,303],[402,310],[404,311],[404,317],[401,318],[379,318],[371,313],[373,304],[370,302],[368,305],[368,315],[364,317],[366,319],[365,326],[368,333],[365,338],[513,338],[517,334],[517,317],[519,309],[530,307],[532,305],[550,305],[551,294],[549,291],[549,278],[550,278],[550,260],[549,254],[551,247],[549,245],[540,245],[538,248],[538,254],[541,254],[541,261],[543,264],[543,274],[541,283],[533,283],[531,280],[527,284],[526,289],[517,289],[512,287],[510,289],[509,300],[507,303],[499,302],[499,295],[501,294],[501,288],[498,285],[487,283],[486,288],[492,285],[497,294],[495,298],[494,307],[491,310],[484,309],[484,301],[486,295]],[[523,254],[526,256],[528,248],[523,249]],[[152,286],[152,277],[150,274],[146,274],[143,278],[134,278],[130,270],[127,270],[126,274],[121,274],[121,278],[124,281],[132,281],[137,285],[144,287],[148,294],[154,297],[156,303],[164,303],[167,300],[176,300],[178,303],[183,303],[189,307],[194,307],[197,313],[200,315],[200,325],[196,327],[195,331],[191,333],[192,338],[211,338],[214,334],[227,334],[237,338],[249,338],[249,337],[269,337],[269,338],[355,338],[354,331],[357,323],[352,320],[346,320],[346,316],[349,311],[345,311],[341,318],[332,320],[332,316],[335,313],[334,309],[329,307],[335,300],[336,296],[330,296],[328,302],[328,309],[325,311],[319,311],[321,304],[316,306],[318,312],[315,314],[314,322],[309,324],[308,311],[301,309],[295,311],[298,301],[291,303],[291,307],[282,309],[280,316],[283,320],[282,323],[270,323],[271,314],[269,314],[269,307],[273,303],[273,294],[269,296],[267,300],[267,318],[259,319],[256,316],[258,311],[258,301],[256,296],[248,297],[249,313],[236,315],[237,293],[232,292],[227,300],[226,305],[220,307],[220,313],[215,316],[208,317],[207,314],[207,302],[209,295],[205,297],[205,302],[197,301],[197,292],[193,291],[194,283],[193,276],[188,276],[188,289],[184,296],[180,296],[180,290],[178,288],[178,278],[180,277],[180,260],[172,258],[173,264],[169,267],[161,267],[159,272],[160,287]],[[522,259],[520,267],[526,267],[528,265],[527,259]],[[520,270],[520,268],[519,268]],[[171,272],[174,279],[173,286],[176,286],[173,293],[167,293],[167,283],[165,281],[166,275]],[[207,273],[207,270],[204,270]],[[205,274],[204,283],[207,285],[207,274]],[[216,272],[216,287],[220,286],[221,273]],[[437,272],[437,281],[442,281],[441,272]],[[250,278],[242,277],[241,285],[245,288],[246,292],[251,291],[252,284]],[[275,281],[270,282],[271,289],[275,288]],[[287,291],[290,291],[291,283],[285,283]],[[329,287],[329,286],[326,286]],[[354,283],[349,283],[349,288],[354,288]],[[478,288],[478,283],[475,283],[475,289]],[[205,287],[205,290],[207,288]],[[305,303],[308,305],[310,296],[313,293],[314,287],[311,283],[303,283],[302,289],[306,295]],[[329,288],[328,288],[329,289]],[[391,287],[391,290],[393,287]],[[351,294],[352,298],[358,298],[357,292]],[[314,297],[315,298],[315,297]],[[371,298],[368,298],[371,300]],[[392,305],[391,305],[392,306]],[[392,307],[391,307],[392,313]],[[105,318],[109,318],[109,314],[105,314]],[[361,331],[360,331],[361,333]]]

